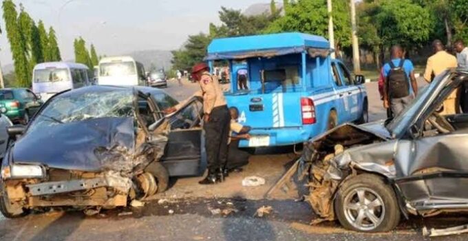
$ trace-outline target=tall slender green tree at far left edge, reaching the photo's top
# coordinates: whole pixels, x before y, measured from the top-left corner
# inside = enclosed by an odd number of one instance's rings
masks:
[[[8,42],[14,62],[14,74],[21,87],[30,87],[31,80],[28,72],[28,59],[26,58],[27,48],[21,27],[17,21],[18,12],[12,0],[4,0],[2,4],[3,20],[6,25]]]

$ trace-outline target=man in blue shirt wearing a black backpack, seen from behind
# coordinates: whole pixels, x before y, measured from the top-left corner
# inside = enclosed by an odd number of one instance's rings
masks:
[[[414,96],[418,94],[418,84],[414,76],[414,66],[409,59],[403,59],[403,49],[394,45],[391,50],[392,60],[383,65],[383,107],[392,109],[398,116]]]

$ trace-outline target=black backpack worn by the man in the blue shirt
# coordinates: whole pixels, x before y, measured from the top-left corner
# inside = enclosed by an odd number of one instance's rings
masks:
[[[405,60],[400,61],[400,65],[395,67],[393,61],[390,61],[390,73],[387,75],[387,90],[390,98],[403,98],[409,96],[409,81],[403,64]]]

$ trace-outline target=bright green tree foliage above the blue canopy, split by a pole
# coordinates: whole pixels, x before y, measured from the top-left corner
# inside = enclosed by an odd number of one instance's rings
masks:
[[[347,0],[333,1],[334,39],[337,46],[351,45],[350,7]],[[274,21],[266,33],[305,32],[328,36],[328,10],[326,0],[299,0],[289,3],[284,17]]]

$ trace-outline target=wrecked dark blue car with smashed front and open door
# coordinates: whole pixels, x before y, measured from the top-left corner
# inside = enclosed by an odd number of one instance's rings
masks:
[[[126,206],[168,187],[171,176],[204,171],[202,103],[193,98],[164,116],[173,99],[151,87],[93,85],[52,97],[1,165],[0,211]]]

